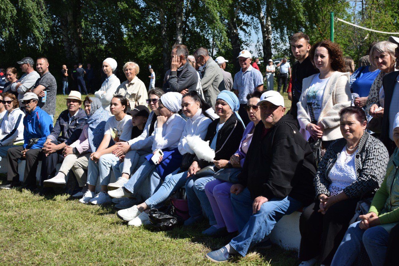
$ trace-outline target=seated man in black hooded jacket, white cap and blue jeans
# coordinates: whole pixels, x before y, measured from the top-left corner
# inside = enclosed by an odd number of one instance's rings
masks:
[[[292,115],[284,116],[283,97],[267,91],[258,105],[263,123],[255,127],[239,183],[230,191],[239,235],[206,254],[213,262],[225,261],[229,254],[245,256],[251,246],[263,245],[281,217],[314,199],[312,150]]]

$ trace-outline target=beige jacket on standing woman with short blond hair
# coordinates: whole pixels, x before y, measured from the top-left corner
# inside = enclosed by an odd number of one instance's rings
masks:
[[[146,103],[146,99],[148,99],[146,86],[137,76],[130,83],[127,80],[122,82],[115,95],[126,97],[131,109],[137,105],[148,105]]]

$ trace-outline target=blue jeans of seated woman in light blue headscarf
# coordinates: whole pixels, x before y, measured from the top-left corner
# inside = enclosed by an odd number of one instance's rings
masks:
[[[209,203],[209,199],[205,194],[205,185],[212,180],[215,180],[213,176],[188,179],[186,181],[186,195],[188,201],[188,213],[190,216],[196,217],[201,215],[203,209],[209,219],[209,225],[216,225],[216,219],[215,215],[213,215],[211,203]]]

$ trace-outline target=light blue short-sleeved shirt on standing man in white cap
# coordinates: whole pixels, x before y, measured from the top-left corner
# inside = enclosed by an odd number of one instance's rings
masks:
[[[262,73],[252,66],[249,66],[244,73],[241,68],[234,75],[233,89],[238,91],[240,104],[247,104],[248,93],[253,93],[259,85],[263,85]]]

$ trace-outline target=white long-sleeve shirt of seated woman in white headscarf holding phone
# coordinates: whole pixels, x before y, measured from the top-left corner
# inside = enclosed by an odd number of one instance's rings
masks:
[[[178,147],[180,138],[184,130],[186,120],[179,114],[172,114],[168,120],[163,124],[162,128],[155,128],[154,143],[152,143],[152,150],[166,149],[173,150]]]

